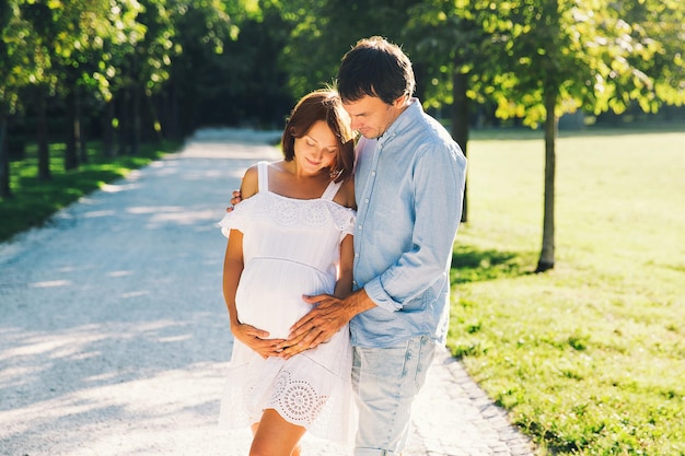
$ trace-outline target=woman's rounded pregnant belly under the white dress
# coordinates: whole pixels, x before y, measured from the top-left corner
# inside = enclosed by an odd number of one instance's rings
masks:
[[[278,259],[249,261],[237,287],[235,305],[241,323],[285,339],[293,323],[311,311],[302,295],[333,293],[335,279],[317,269]]]

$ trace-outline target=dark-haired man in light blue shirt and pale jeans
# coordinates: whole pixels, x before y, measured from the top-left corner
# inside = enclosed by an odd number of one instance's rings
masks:
[[[360,407],[356,456],[399,455],[411,404],[444,346],[450,261],[461,220],[466,159],[413,98],[399,47],[362,39],[345,55],[337,89],[359,131],[355,176],[355,293],[304,297],[316,306],[283,344],[290,356],[350,323]]]

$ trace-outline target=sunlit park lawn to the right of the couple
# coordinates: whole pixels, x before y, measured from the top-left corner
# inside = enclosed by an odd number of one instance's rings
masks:
[[[448,346],[541,454],[685,455],[682,131],[561,136],[539,274],[542,133],[468,144]]]

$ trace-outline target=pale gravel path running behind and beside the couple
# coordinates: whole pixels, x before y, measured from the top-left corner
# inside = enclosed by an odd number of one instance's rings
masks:
[[[277,157],[272,138],[202,131],[0,244],[0,455],[247,454],[247,431],[216,424],[232,344],[216,222],[245,167]],[[532,455],[448,355],[415,417],[407,455]]]

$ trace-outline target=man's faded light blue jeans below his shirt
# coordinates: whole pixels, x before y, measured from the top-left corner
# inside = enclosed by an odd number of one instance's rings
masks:
[[[355,456],[400,455],[411,404],[426,382],[436,342],[416,337],[393,348],[355,347],[352,385],[359,406]]]

